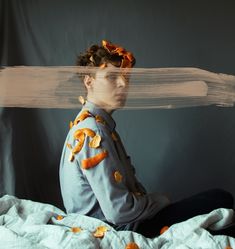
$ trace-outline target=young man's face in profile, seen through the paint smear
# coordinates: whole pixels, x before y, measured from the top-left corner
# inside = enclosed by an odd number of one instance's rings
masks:
[[[95,78],[89,77],[86,84],[88,100],[90,99],[108,111],[122,108],[125,105],[128,91],[128,78],[112,72],[116,68],[108,63],[107,67],[96,72]]]

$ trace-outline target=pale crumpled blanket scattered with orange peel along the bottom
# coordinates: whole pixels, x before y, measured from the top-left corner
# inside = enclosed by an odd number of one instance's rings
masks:
[[[64,218],[57,220],[58,215]],[[140,249],[225,249],[227,246],[235,249],[235,238],[212,236],[205,230],[207,227],[219,229],[226,226],[233,215],[231,209],[217,209],[175,224],[154,239],[147,239],[134,232],[115,231],[98,219],[79,214],[67,215],[49,204],[5,195],[0,198],[0,249],[125,249],[130,242],[135,242]],[[98,226],[109,229],[103,238],[93,235]],[[72,227],[80,227],[82,231],[74,233]]]

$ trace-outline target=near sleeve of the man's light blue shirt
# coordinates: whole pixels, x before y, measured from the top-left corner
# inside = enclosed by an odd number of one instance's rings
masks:
[[[91,148],[92,137],[86,136],[76,160],[82,168],[106,219],[116,225],[143,220],[169,204],[158,193],[136,196],[129,191],[122,165],[112,137],[106,130],[96,129],[101,137],[98,148]],[[105,153],[104,153],[105,152]]]

